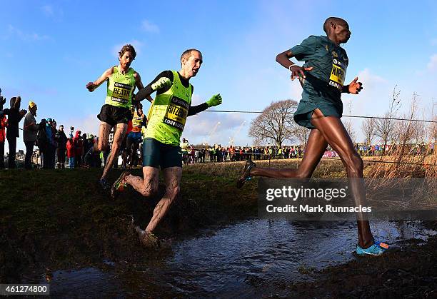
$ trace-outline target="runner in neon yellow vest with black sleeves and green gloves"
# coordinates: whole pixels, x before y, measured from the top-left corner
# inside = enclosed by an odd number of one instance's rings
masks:
[[[161,72],[154,81],[136,94],[136,99],[141,101],[156,91],[156,97],[147,117],[148,123],[143,141],[144,178],[124,172],[112,186],[111,193],[115,196],[117,191],[122,191],[124,187],[130,185],[142,196],[151,196],[157,191],[159,167],[161,167],[166,192],[154,209],[154,216],[146,229],[137,229],[141,243],[146,246],[159,243],[152,232],[169,211],[171,203],[174,202],[181,188],[182,156],[179,144],[187,116],[217,106],[222,101],[220,94],[216,94],[206,103],[191,106],[194,87],[189,80],[198,73],[202,59],[199,50],[184,51],[181,55],[180,71]]]

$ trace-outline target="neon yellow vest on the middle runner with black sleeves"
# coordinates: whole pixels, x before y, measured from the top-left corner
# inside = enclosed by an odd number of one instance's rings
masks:
[[[192,91],[191,85],[182,85],[177,71],[172,73],[173,85],[165,93],[156,95],[149,110],[145,137],[171,146],[179,146]]]

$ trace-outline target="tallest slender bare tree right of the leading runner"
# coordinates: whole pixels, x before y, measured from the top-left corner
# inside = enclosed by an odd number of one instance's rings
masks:
[[[384,113],[384,118],[376,121],[375,133],[376,136],[380,138],[381,143],[383,143],[383,153],[386,151],[387,144],[393,140],[395,133],[396,123],[391,118],[396,118],[398,110],[401,107],[401,99],[399,98],[401,91],[396,90],[396,87],[397,86],[393,88],[393,97],[391,98],[388,111]]]

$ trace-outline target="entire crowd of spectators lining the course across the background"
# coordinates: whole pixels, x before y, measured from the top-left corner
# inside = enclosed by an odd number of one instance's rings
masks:
[[[0,91],[1,92],[1,91]],[[13,97],[10,100],[10,108],[4,108],[6,98],[0,96],[0,168],[5,168],[5,161],[8,168],[16,168],[16,139],[19,138],[19,123],[24,118],[23,141],[26,146],[26,156],[24,158],[24,168],[30,169],[32,165],[41,168],[77,168],[77,167],[98,167],[106,163],[109,149],[100,153],[93,154],[94,143],[98,142],[97,136],[91,133],[82,133],[81,130],[74,132],[74,127],[70,127],[67,134],[64,125],[57,128],[53,118],[43,118],[36,123],[37,106],[33,101],[29,101],[28,111],[21,109],[21,98]],[[143,130],[144,132],[144,130]],[[5,141],[9,144],[9,154],[4,158]],[[141,165],[141,146],[134,151],[126,148],[121,150],[123,157],[122,166],[126,168],[126,161],[132,161],[134,166]],[[34,151],[36,146],[37,151]],[[386,156],[390,155],[396,145],[381,146],[379,144],[368,145],[363,143],[355,144],[356,151],[360,156]],[[291,146],[214,146],[192,145],[186,138],[181,141],[181,153],[184,164],[204,163],[204,162],[223,162],[223,161],[245,161],[251,159],[268,160],[278,158],[302,158],[304,147],[301,145]],[[433,153],[434,143],[431,144],[411,144],[408,145],[408,154],[424,155]],[[129,156],[130,155],[130,156]],[[129,159],[128,159],[129,156]],[[335,151],[328,146],[326,156],[338,156]],[[130,165],[133,166],[133,165]],[[117,166],[115,166],[117,167]]]

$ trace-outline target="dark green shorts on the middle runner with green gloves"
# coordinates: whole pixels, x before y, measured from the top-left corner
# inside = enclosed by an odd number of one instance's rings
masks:
[[[161,143],[154,138],[144,138],[142,155],[143,167],[182,167],[181,147]]]

